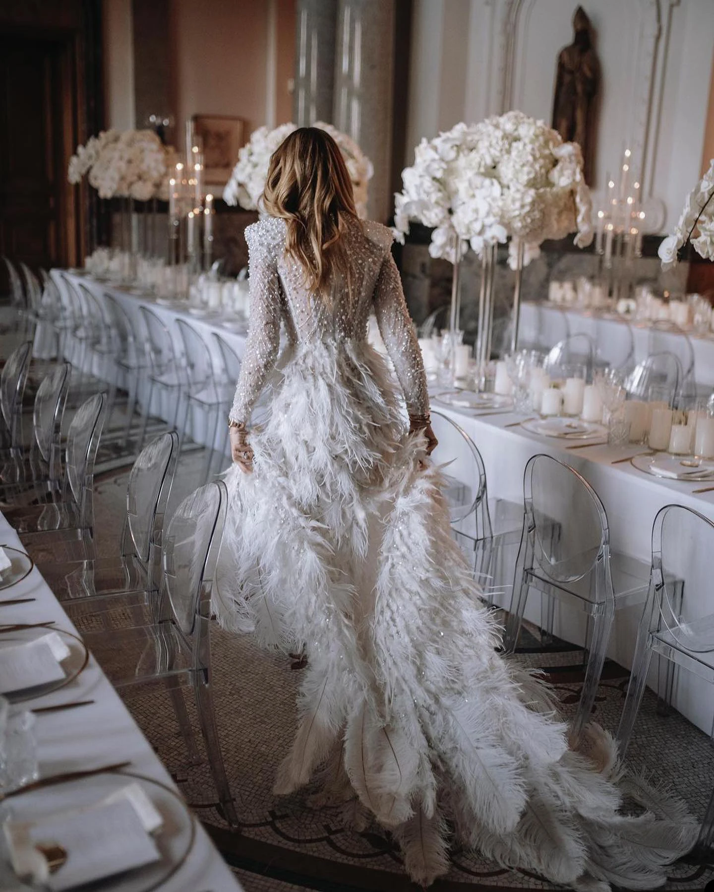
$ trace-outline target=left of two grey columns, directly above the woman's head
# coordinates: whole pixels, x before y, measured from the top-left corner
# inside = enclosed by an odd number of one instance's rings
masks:
[[[292,120],[300,127],[332,123],[338,0],[298,0],[295,8],[295,92]]]

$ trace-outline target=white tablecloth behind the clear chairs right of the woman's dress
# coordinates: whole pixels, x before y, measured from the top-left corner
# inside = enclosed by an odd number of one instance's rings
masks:
[[[643,447],[592,446],[587,449],[568,450],[572,443],[564,443],[554,438],[529,434],[522,427],[506,427],[517,422],[521,416],[505,413],[497,416],[469,416],[464,411],[449,409],[431,402],[431,409],[453,417],[478,446],[486,467],[489,496],[518,501],[523,500],[523,471],[528,459],[540,452],[567,462],[591,483],[603,501],[610,525],[611,548],[633,558],[650,563],[652,557],[652,522],[660,508],[672,503],[694,508],[702,515],[714,520],[714,491],[694,494],[693,490],[703,488],[707,483],[682,483],[663,480],[637,471],[629,462],[613,465],[612,461],[623,456],[635,455]],[[436,452],[439,460],[447,460],[445,444],[440,444]],[[578,518],[573,518],[577,523]],[[509,549],[508,558],[515,560],[517,547]],[[684,549],[683,549],[684,553]],[[697,558],[702,560],[702,579],[685,591],[685,598],[702,602],[707,612],[714,613],[714,585],[710,569],[710,556],[705,557],[701,549],[694,549]],[[513,563],[510,565],[511,570]],[[512,573],[496,582],[504,583],[507,590],[496,600],[508,606],[513,583]],[[526,617],[538,623],[540,620],[540,599],[536,592],[528,599]],[[637,625],[642,614],[642,605],[625,607],[615,615],[609,656],[620,665],[630,667],[635,650]],[[570,607],[556,608],[554,632],[565,640],[584,643],[585,625],[583,615]],[[654,661],[656,663],[656,661]],[[655,687],[654,674],[650,677]],[[689,673],[679,673],[674,705],[693,723],[710,733],[714,715],[714,691],[711,686]]]

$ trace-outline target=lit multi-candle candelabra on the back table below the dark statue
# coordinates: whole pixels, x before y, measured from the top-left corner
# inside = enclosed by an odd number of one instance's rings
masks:
[[[595,253],[601,260],[601,275],[615,300],[628,297],[634,268],[642,256],[644,211],[640,182],[633,173],[632,151],[625,149],[620,165],[620,183],[607,175],[604,207],[597,212]]]

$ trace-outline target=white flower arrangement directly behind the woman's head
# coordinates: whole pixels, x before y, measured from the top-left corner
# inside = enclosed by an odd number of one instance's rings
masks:
[[[353,139],[333,128],[332,124],[317,121],[314,126],[326,130],[340,147],[347,164],[349,178],[352,180],[357,214],[365,218],[367,189],[374,172],[372,161]],[[238,162],[223,190],[223,200],[226,204],[240,204],[246,211],[259,210],[260,196],[266,187],[270,156],[293,130],[297,130],[297,125],[290,123],[282,124],[273,130],[259,127],[250,134],[250,141],[238,153]]]

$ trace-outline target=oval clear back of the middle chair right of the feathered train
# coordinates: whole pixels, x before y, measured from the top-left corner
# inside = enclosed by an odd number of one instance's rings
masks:
[[[562,584],[589,574],[607,541],[607,516],[590,484],[568,465],[537,455],[526,466],[525,497],[538,575]]]

